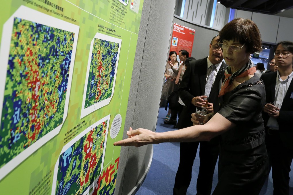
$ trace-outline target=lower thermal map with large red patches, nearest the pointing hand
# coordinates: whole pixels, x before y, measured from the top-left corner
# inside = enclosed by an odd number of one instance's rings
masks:
[[[101,172],[108,120],[71,145],[59,157],[56,194],[83,194]]]

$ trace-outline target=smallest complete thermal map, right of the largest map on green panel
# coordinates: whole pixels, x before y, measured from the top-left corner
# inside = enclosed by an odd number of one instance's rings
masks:
[[[94,39],[84,108],[112,95],[119,44]]]

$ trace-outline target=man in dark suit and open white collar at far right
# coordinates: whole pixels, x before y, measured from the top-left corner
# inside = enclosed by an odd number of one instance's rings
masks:
[[[293,158],[293,43],[278,43],[274,55],[279,70],[261,76],[266,95],[263,119],[274,195],[288,195]]]

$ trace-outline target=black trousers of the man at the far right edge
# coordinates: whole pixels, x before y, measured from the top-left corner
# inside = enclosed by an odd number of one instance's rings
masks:
[[[289,195],[289,172],[293,159],[293,150],[284,146],[279,131],[268,131],[266,146],[272,165],[274,195]]]

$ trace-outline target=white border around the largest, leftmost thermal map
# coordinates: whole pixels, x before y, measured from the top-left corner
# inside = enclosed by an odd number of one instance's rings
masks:
[[[13,28],[13,20],[14,18],[22,18],[24,20],[33,21],[35,23],[40,23],[42,25],[51,26],[54,28],[59,28],[61,30],[67,30],[70,32],[74,32],[74,42],[73,42],[73,48],[72,48],[72,56],[71,56],[71,62],[69,67],[69,78],[68,78],[68,84],[67,84],[67,92],[66,92],[66,98],[65,98],[65,105],[64,105],[64,113],[63,113],[63,121],[62,125],[64,124],[64,121],[67,117],[67,111],[68,111],[68,104],[69,104],[69,95],[70,95],[70,88],[71,88],[71,81],[72,81],[72,75],[73,75],[73,68],[74,68],[74,59],[75,59],[75,53],[76,53],[76,45],[77,45],[77,38],[79,33],[79,26],[65,22],[63,20],[54,18],[50,15],[47,15],[45,13],[41,13],[39,11],[35,11],[31,8],[28,8],[26,6],[20,6],[16,12],[12,14],[12,16],[4,23],[3,25],[3,33],[1,37],[1,47],[0,47],[0,115],[2,115],[2,106],[3,106],[3,100],[4,100],[4,89],[6,84],[6,73],[7,73],[7,67],[8,67],[8,58],[9,58],[9,51],[10,51],[10,43],[11,43],[11,33]],[[8,49],[7,49],[8,48]],[[1,125],[1,118],[0,118],[0,125]],[[33,143],[31,146],[29,146],[27,149],[19,153],[16,157],[11,159],[8,163],[6,163],[2,168],[0,168],[0,180],[3,179],[9,172],[11,172],[14,168],[16,168],[22,161],[24,161],[28,156],[30,156],[32,153],[34,153],[36,150],[38,150],[42,145],[47,143],[50,139],[52,139],[54,136],[56,136],[60,130],[62,125],[59,125],[46,135],[44,135],[42,138],[40,138],[38,141]]]

